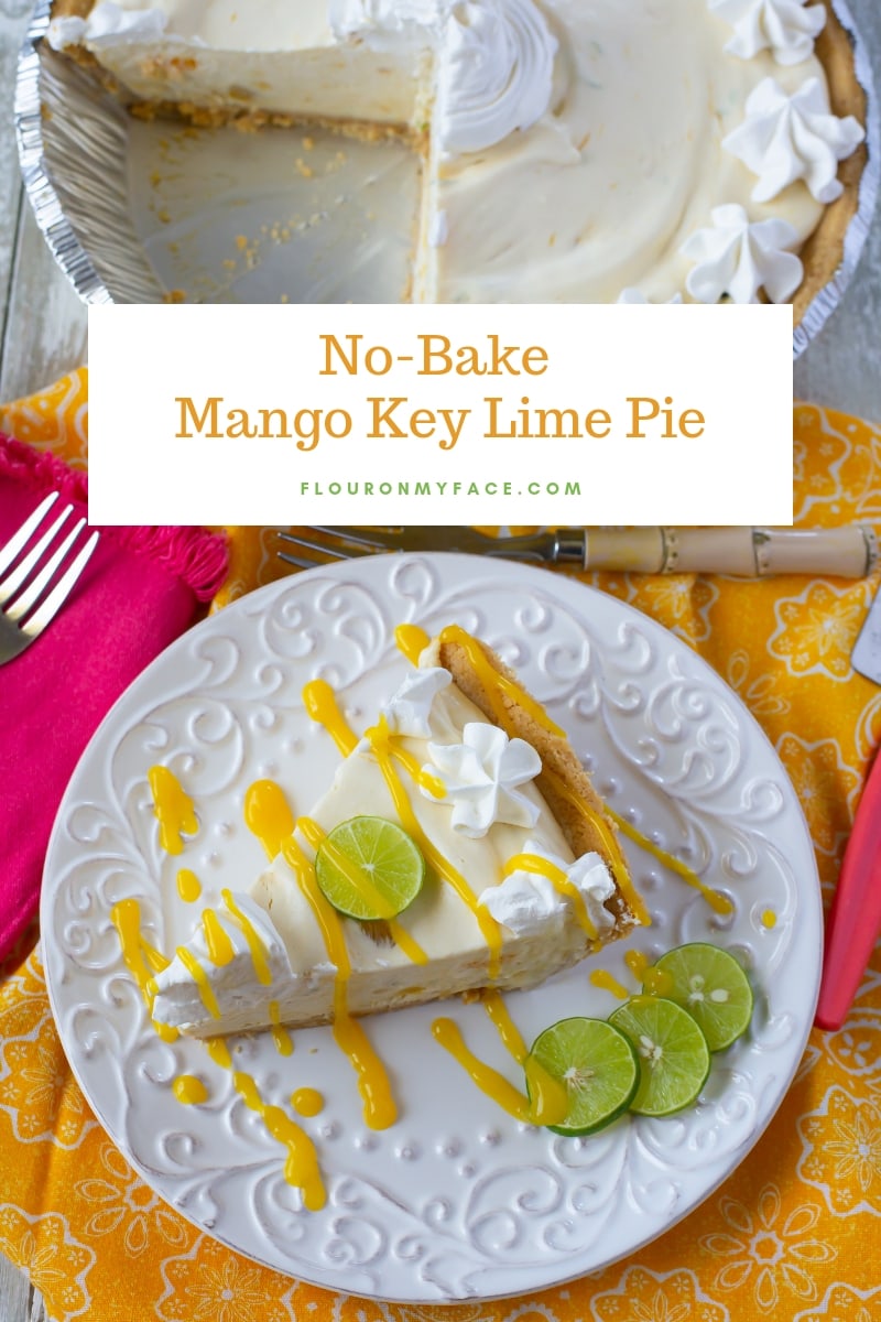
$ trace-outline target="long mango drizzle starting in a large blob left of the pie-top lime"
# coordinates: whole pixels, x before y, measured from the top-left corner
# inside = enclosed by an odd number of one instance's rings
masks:
[[[271,858],[279,853],[284,857],[312,908],[328,956],[337,969],[334,978],[334,1039],[349,1056],[358,1076],[358,1091],[365,1104],[365,1124],[371,1129],[387,1129],[398,1118],[398,1108],[379,1056],[362,1026],[349,1013],[347,982],[351,974],[351,962],[342,924],[337,911],[316,880],[314,867],[293,838],[296,822],[281,787],[271,780],[260,780],[251,785],[246,795],[244,817],[248,828],[262,841],[267,854]]]

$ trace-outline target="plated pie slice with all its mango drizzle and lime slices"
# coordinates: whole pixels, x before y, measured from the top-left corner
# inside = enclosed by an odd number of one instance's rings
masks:
[[[589,1134],[626,1110],[664,1114],[693,1103],[711,1052],[752,1014],[746,977],[726,952],[686,947],[671,973],[629,951],[643,992],[626,1022],[584,1018],[573,1005],[575,1017],[546,1025],[530,1048],[506,993],[539,988],[649,921],[619,828],[717,915],[732,906],[604,805],[567,734],[486,644],[457,624],[433,639],[400,625],[396,640],[411,665],[363,732],[326,680],[305,683],[308,718],[339,763],[302,813],[283,775],[248,779],[243,822],[269,861],[250,884],[229,878],[206,903],[198,876],[180,867],[177,891],[198,917],[173,951],[148,940],[136,899],[111,912],[152,1027],[166,1040],[205,1039],[284,1146],[287,1183],[308,1211],[325,1206],[326,1190],[301,1117],[320,1114],[324,1096],[304,1085],[291,1109],[268,1104],[234,1044],[250,1034],[271,1034],[288,1056],[296,1030],[326,1025],[351,1064],[365,1125],[383,1130],[400,1118],[398,1087],[371,1017],[476,1002],[522,1087],[472,1050],[449,1013],[431,1018],[427,1050],[442,1048],[466,1085],[523,1125]],[[186,777],[161,761],[144,775],[160,849],[181,854],[199,832]],[[608,977],[597,972],[597,985]],[[210,1101],[199,1075],[169,1085],[182,1104]]]

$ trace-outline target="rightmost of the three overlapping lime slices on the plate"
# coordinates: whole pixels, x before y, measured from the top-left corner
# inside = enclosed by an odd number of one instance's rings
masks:
[[[643,986],[652,990],[688,1010],[711,1051],[729,1047],[753,1017],[753,989],[744,969],[728,951],[705,941],[662,954]]]

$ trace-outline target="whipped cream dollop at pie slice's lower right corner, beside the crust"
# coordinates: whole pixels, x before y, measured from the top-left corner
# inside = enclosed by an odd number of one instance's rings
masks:
[[[581,895],[597,932],[610,931],[614,925],[614,917],[605,907],[604,900],[614,894],[614,886],[609,870],[598,854],[582,854],[573,863],[567,863],[565,859],[548,853],[543,843],[536,839],[527,839],[523,853],[543,858],[565,873],[567,880]],[[516,936],[531,935],[540,929],[548,919],[555,915],[561,916],[569,907],[569,900],[557,891],[547,876],[540,873],[527,873],[524,869],[511,873],[499,886],[487,887],[481,894],[478,903],[489,910],[497,923],[507,927]]]

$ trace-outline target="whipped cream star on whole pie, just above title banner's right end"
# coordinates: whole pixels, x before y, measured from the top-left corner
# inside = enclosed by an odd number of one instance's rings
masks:
[[[802,283],[802,262],[789,251],[798,231],[789,221],[750,221],[742,206],[716,206],[712,227],[696,230],[683,245],[695,264],[687,290],[699,303],[757,303],[758,291],[771,303],[785,303]]]

